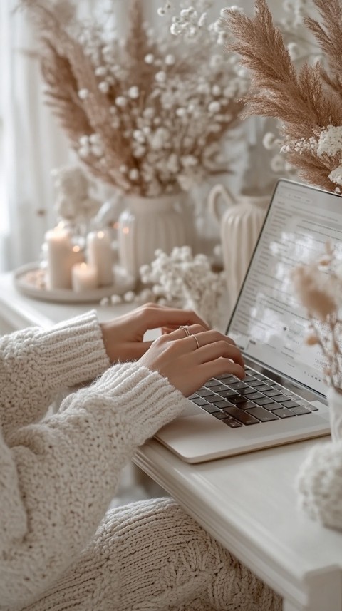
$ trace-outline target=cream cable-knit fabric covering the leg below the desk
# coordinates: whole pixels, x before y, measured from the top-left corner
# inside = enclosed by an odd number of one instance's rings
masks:
[[[280,611],[281,599],[170,498],[109,512],[25,611]]]

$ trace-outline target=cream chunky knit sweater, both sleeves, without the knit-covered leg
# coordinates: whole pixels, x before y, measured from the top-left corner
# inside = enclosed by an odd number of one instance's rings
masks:
[[[166,379],[125,363],[42,419],[63,386],[108,366],[95,312],[0,340],[3,607],[24,605],[63,573],[94,535],[120,469],[185,406]]]

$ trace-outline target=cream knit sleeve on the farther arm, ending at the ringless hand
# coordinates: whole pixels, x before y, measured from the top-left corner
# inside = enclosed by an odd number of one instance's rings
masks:
[[[36,421],[63,387],[94,379],[109,366],[96,312],[52,327],[0,338],[0,418],[4,435]]]

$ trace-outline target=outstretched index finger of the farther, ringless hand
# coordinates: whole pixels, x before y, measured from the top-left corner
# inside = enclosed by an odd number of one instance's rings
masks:
[[[156,308],[153,304],[140,311],[143,317],[146,329],[157,329],[158,327],[167,327],[172,329],[180,327],[180,325],[199,324],[204,329],[209,329],[208,325],[202,318],[192,310],[182,310],[177,308],[159,307]]]

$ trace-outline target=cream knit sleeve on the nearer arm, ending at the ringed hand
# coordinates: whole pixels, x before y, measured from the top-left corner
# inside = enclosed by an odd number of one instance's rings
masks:
[[[0,438],[0,608],[27,605],[76,560],[120,469],[186,401],[156,372],[118,364]]]

